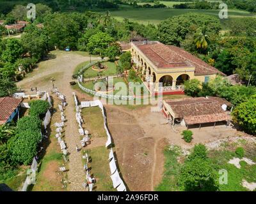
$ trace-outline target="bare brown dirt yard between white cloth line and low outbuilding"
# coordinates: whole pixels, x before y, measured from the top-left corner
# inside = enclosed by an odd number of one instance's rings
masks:
[[[221,138],[237,136],[237,131],[226,126],[193,128],[193,142],[182,140],[186,128],[172,129],[163,124],[164,115],[150,112],[150,106],[130,110],[125,106],[106,105],[109,131],[116,147],[118,165],[131,191],[154,191],[164,171],[163,149],[168,144],[193,147]]]

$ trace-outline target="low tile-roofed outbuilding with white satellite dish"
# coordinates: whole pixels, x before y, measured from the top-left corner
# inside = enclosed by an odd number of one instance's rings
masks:
[[[215,126],[219,122],[230,120],[227,111],[232,104],[226,99],[218,97],[184,98],[163,101],[163,113],[166,118],[181,126],[195,126],[202,124]]]

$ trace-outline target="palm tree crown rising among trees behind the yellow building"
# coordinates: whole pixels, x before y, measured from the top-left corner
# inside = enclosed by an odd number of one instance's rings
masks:
[[[207,28],[204,26],[202,29],[198,29],[197,33],[195,34],[195,45],[196,48],[200,50],[206,50],[209,43],[210,38],[207,34]]]

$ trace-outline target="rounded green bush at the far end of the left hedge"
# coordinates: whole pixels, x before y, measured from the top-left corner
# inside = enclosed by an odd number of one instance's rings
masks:
[[[29,102],[29,115],[36,117],[43,117],[50,107],[47,101],[35,100]]]

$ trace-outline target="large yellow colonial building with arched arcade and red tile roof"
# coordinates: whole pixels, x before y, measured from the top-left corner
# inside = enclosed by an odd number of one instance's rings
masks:
[[[209,82],[216,75],[225,75],[182,48],[164,45],[159,41],[131,42],[132,61],[140,71],[143,82],[157,94],[183,94],[184,81],[196,78],[200,82]],[[163,84],[159,85],[159,82]]]

